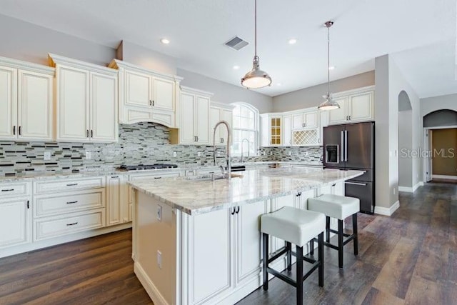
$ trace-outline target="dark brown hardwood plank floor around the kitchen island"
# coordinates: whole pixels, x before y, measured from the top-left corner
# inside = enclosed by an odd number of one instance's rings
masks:
[[[401,193],[391,217],[359,214],[359,255],[325,251],[325,282],[305,304],[457,304],[457,185]],[[350,225],[349,225],[350,227]],[[238,304],[294,304],[278,279]],[[131,230],[0,259],[0,304],[152,304],[133,272]]]

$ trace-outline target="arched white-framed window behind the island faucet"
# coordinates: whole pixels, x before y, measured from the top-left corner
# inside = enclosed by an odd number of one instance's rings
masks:
[[[233,156],[256,155],[258,148],[258,110],[246,103],[234,103],[233,109]],[[247,140],[247,141],[246,141]],[[249,142],[249,144],[248,144]]]

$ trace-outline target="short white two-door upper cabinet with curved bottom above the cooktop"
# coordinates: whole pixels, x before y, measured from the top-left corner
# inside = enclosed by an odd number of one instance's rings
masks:
[[[176,103],[181,78],[159,74],[114,59],[110,68],[119,70],[119,123],[151,121],[176,127]]]

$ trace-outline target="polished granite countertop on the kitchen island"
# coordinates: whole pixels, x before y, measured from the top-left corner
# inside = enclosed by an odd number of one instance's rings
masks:
[[[299,191],[317,189],[360,176],[364,171],[293,168],[240,171],[241,177],[215,181],[175,177],[129,182],[135,189],[164,204],[197,215],[256,201],[273,199]]]

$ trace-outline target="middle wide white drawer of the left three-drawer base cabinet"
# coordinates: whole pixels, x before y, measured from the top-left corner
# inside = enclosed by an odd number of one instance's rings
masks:
[[[34,216],[51,216],[87,209],[105,207],[105,189],[93,191],[69,192],[47,196],[36,196],[34,199]]]

